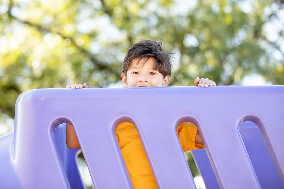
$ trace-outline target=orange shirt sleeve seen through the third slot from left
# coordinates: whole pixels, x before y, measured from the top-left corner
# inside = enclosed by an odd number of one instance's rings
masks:
[[[204,148],[204,145],[194,142],[197,128],[193,123],[184,122],[180,124],[177,128],[177,133],[183,152]]]

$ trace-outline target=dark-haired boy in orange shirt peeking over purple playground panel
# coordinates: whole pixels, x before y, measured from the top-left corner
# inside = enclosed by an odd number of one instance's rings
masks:
[[[172,64],[169,53],[161,47],[161,42],[142,40],[133,44],[123,62],[122,82],[125,87],[163,87],[170,81]],[[195,86],[216,85],[208,78],[196,78]],[[66,88],[87,88],[87,84],[67,85]],[[177,134],[183,151],[204,148],[200,134],[192,123],[182,123]],[[135,189],[158,188],[135,126],[124,122],[116,128],[116,138],[128,168]],[[66,124],[68,148],[80,148],[74,128]]]

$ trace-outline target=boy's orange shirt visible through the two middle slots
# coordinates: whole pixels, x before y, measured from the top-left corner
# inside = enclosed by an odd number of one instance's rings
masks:
[[[185,122],[177,129],[179,141],[184,152],[202,149],[203,145],[194,143],[197,128]],[[116,138],[135,189],[158,189],[151,167],[135,126],[124,122],[116,128]]]

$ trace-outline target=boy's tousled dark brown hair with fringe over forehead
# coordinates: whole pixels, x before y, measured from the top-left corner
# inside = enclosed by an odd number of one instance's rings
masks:
[[[162,42],[155,42],[152,40],[141,40],[135,44],[133,44],[127,51],[127,54],[123,61],[122,73],[126,75],[128,69],[130,69],[131,61],[135,58],[140,58],[137,62],[139,64],[140,60],[144,57],[147,57],[147,60],[143,63],[142,67],[145,63],[152,57],[156,60],[156,65],[154,70],[157,70],[163,75],[165,78],[167,75],[172,75],[172,64],[170,56],[170,52],[165,51],[162,48]]]

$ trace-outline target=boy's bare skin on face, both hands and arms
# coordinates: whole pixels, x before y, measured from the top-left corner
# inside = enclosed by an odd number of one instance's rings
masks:
[[[158,72],[158,70],[154,70],[155,67],[155,59],[150,58],[144,66],[143,63],[146,61],[147,58],[142,58],[137,64],[139,58],[136,58],[132,60],[130,69],[127,71],[127,73],[122,73],[121,78],[122,82],[125,87],[166,87],[168,86],[170,82],[170,76],[167,75],[166,77],[163,77],[161,73]],[[127,76],[127,77],[126,77]],[[199,78],[197,77],[194,80],[195,86],[201,86],[201,87],[208,87],[208,86],[216,86],[216,83],[208,78]],[[73,85],[67,85],[66,88],[88,88],[87,84],[73,84]],[[66,124],[66,143],[68,148],[71,149],[77,149],[80,148],[79,141],[77,139],[74,127],[70,124]],[[199,132],[197,131],[196,137],[195,137],[195,143],[203,145],[201,136]]]

